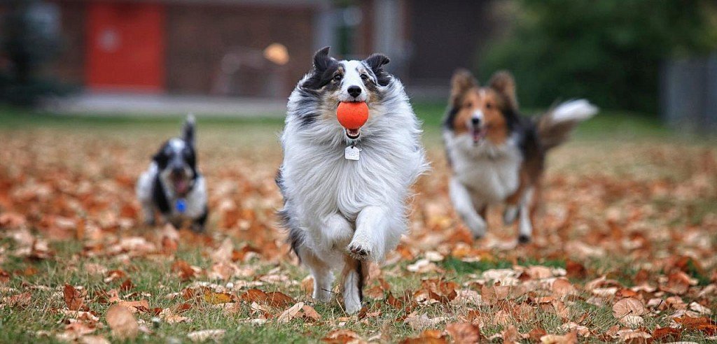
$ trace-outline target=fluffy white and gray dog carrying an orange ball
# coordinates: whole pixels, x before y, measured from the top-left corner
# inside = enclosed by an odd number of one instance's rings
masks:
[[[313,70],[288,102],[277,185],[293,251],[310,269],[315,300],[331,299],[333,271],[342,271],[346,312],[361,309],[369,261],[381,261],[407,229],[409,188],[427,169],[402,83],[383,69],[389,59],[338,61],[318,51]],[[339,102],[366,102],[359,129],[337,120]],[[349,156],[356,149],[356,156]]]

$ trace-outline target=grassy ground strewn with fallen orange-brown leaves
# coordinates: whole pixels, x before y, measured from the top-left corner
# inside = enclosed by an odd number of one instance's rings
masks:
[[[71,120],[0,128],[2,343],[717,338],[713,141],[587,123],[551,154],[535,239],[517,246],[498,210],[478,242],[457,221],[428,121],[432,171],[410,232],[371,269],[364,310],[346,315],[340,295],[310,299],[277,229],[280,123],[199,121],[212,212],[196,235],[141,226],[134,197],[179,120]]]

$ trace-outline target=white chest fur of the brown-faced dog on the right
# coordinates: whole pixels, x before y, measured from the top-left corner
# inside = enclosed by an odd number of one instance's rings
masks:
[[[482,204],[504,201],[520,185],[523,156],[518,146],[509,140],[500,147],[483,141],[477,147],[465,137],[451,138],[450,159],[455,178],[470,188],[475,200]]]

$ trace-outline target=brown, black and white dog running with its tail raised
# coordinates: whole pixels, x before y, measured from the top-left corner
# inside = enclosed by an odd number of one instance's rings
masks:
[[[475,238],[485,235],[488,206],[505,204],[503,222],[519,218],[518,241],[530,241],[546,153],[595,113],[587,100],[570,100],[526,118],[510,73],[497,72],[480,87],[467,70],[455,72],[443,122],[450,198]]]

